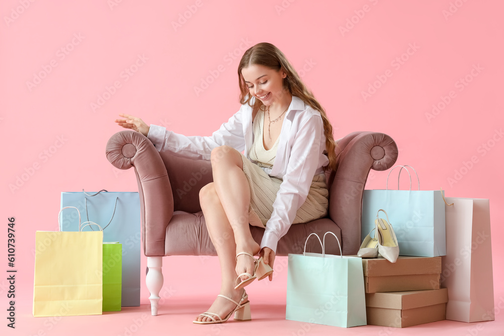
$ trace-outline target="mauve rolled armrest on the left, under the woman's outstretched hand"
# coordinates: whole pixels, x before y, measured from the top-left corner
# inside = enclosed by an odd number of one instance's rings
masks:
[[[173,193],[159,152],[141,133],[123,130],[110,137],[105,154],[116,168],[135,167],[144,254],[164,256],[166,227],[173,216]]]

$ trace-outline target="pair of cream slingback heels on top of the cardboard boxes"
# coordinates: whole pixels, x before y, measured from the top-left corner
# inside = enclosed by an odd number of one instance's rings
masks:
[[[383,218],[378,218],[380,211],[385,213],[387,221]],[[371,238],[371,232],[373,232],[373,230],[374,238]],[[376,213],[374,228],[364,238],[357,252],[357,256],[362,258],[376,258],[378,257],[378,253],[390,262],[396,262],[399,256],[399,244],[396,234],[392,228],[392,224],[390,224],[389,215],[387,215],[383,209],[380,209],[378,213]]]

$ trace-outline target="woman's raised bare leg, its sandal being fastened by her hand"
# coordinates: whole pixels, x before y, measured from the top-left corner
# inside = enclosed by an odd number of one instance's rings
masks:
[[[256,255],[260,245],[252,238],[248,225],[250,186],[243,173],[241,154],[230,146],[220,146],[212,151],[211,161],[215,191],[234,232],[235,252]],[[236,260],[236,274],[243,272],[254,272],[254,260],[245,254],[239,255]],[[245,279],[247,277],[242,276],[242,280]]]

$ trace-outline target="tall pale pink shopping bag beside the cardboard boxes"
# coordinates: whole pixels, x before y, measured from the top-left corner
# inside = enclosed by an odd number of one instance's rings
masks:
[[[490,201],[446,197],[446,256],[441,286],[448,288],[446,318],[462,322],[495,319]]]

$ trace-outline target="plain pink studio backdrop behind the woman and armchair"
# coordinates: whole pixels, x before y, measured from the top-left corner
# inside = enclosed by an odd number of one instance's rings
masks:
[[[211,135],[239,109],[238,62],[259,42],[273,43],[287,56],[325,107],[335,139],[356,130],[387,133],[399,147],[397,164],[417,170],[422,190],[442,186],[447,196],[490,199],[495,304],[504,304],[498,280],[504,249],[496,239],[504,220],[503,10],[500,1],[462,0],[2,1],[0,132],[7,147],[0,217],[4,225],[16,218],[18,327],[23,334],[52,334],[64,325],[89,323],[64,319],[49,329],[47,320],[32,317],[30,250],[36,230],[57,229],[61,191],[138,191],[133,169],[118,170],[105,157],[107,140],[123,129],[114,122],[117,114],[188,136]],[[134,73],[125,75],[126,68]],[[36,74],[43,78],[34,79]],[[433,105],[439,107],[435,113]],[[366,188],[383,188],[386,176],[375,172]],[[402,183],[408,187],[406,178]],[[2,231],[6,240],[6,227]],[[145,261],[142,256],[142,269]],[[286,265],[285,257],[277,258],[274,281],[247,289],[251,301],[261,302],[258,311],[274,304],[281,318]],[[145,305],[124,323],[147,313],[153,325],[165,321],[194,334],[209,332],[192,329],[191,321],[218,294],[218,267],[213,257],[164,258],[165,290],[171,288],[171,299],[187,315],[177,317],[166,300],[160,310],[165,315],[151,318],[142,277]],[[5,314],[6,281],[0,285]],[[187,304],[193,296],[194,305]],[[90,327],[99,328],[104,319]],[[301,330],[290,323],[289,334]],[[451,324],[439,325],[459,334],[471,327],[445,323]],[[120,326],[109,331],[124,334]]]

